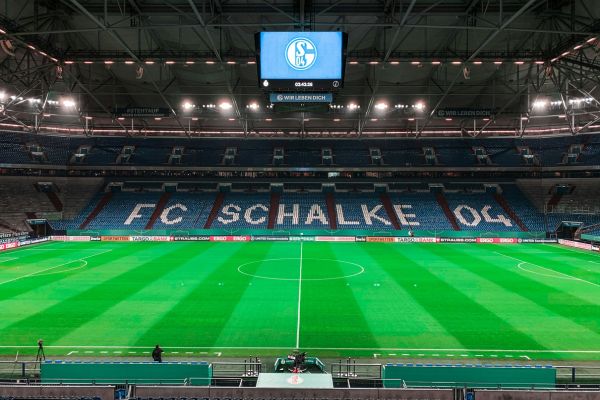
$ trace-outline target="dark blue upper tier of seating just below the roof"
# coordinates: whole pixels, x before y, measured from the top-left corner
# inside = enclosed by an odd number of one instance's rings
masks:
[[[27,146],[40,146],[44,159],[31,157]],[[125,163],[140,166],[167,165],[174,146],[182,147],[182,166],[219,166],[227,147],[237,153],[232,165],[245,167],[268,167],[273,165],[273,148],[285,150],[281,166],[316,167],[322,164],[321,149],[330,148],[332,165],[360,167],[371,165],[370,148],[381,149],[382,166],[415,167],[425,166],[423,148],[435,150],[437,163],[441,166],[479,166],[473,148],[482,147],[489,155],[489,165],[519,167],[525,165],[518,148],[530,149],[543,166],[563,165],[564,155],[573,144],[583,145],[581,156],[574,165],[600,163],[600,134],[563,136],[555,138],[471,138],[471,139],[172,139],[130,137],[82,137],[52,136],[30,133],[0,132],[1,164],[56,164],[103,165],[117,163],[123,146],[132,146],[134,151]],[[82,160],[73,154],[81,146],[89,147]],[[486,164],[487,165],[487,164]]]

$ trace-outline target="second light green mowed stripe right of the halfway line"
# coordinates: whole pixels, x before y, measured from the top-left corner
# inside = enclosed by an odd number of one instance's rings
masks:
[[[468,289],[464,291],[467,296],[496,313],[519,331],[534,338],[545,348],[564,348],[565,335],[578,337],[577,343],[574,344],[577,348],[590,348],[600,343],[600,336],[595,332],[523,296],[522,292],[528,290],[527,287],[511,285],[512,290],[507,290],[490,280],[490,274],[474,272],[479,265],[492,263],[497,268],[502,268],[507,263],[511,263],[511,260],[496,257],[486,262],[480,255],[487,254],[488,250],[475,248],[469,252],[471,262],[466,266],[464,262],[466,257],[453,257],[455,248],[447,248],[444,251],[441,247],[435,249],[428,247],[428,250],[437,256],[437,259],[432,260],[431,263],[432,273],[456,287],[467,287]]]

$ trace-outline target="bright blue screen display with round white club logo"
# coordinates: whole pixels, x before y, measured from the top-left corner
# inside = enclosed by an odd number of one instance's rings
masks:
[[[260,80],[338,80],[343,77],[342,32],[261,32]]]

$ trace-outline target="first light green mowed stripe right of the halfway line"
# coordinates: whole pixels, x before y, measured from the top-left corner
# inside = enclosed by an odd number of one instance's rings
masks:
[[[449,334],[413,297],[396,283],[383,263],[401,273],[401,264],[386,257],[387,252],[369,252],[372,243],[338,243],[331,248],[340,260],[350,260],[365,273],[348,279],[371,332],[382,348],[460,348]]]

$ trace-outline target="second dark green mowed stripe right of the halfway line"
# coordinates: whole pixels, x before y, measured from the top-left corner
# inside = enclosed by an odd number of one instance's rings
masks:
[[[385,244],[375,244],[370,251],[385,251],[383,246]],[[457,288],[429,271],[427,264],[432,257],[428,252],[434,250],[433,246],[411,247],[419,249],[419,254],[407,251],[406,247],[387,247],[392,252],[390,256],[403,268],[397,271],[389,264],[384,268],[465,349],[543,349],[533,338],[466,296],[464,291],[468,285]],[[462,262],[468,264],[470,260],[463,257]],[[482,332],[485,332],[485,340],[482,340]]]

